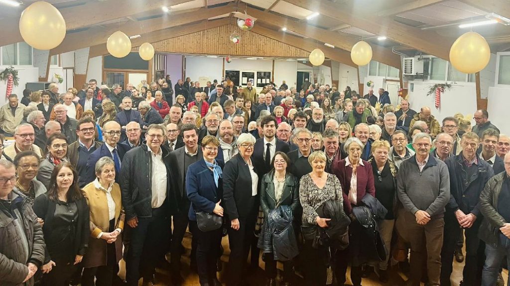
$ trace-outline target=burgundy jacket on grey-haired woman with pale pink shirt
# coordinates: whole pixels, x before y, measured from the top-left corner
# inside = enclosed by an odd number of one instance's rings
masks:
[[[345,160],[347,158],[334,161],[331,168],[333,169],[333,174],[335,174],[340,181],[340,185],[342,186],[343,197],[344,197],[344,211],[347,214],[350,214],[352,211],[352,206],[349,200],[349,189],[350,189],[350,180],[352,177],[352,167],[345,166]],[[362,198],[366,193],[371,194],[375,197],[375,187],[374,187],[374,174],[372,171],[372,165],[365,161],[363,161],[363,165],[359,165],[356,168],[356,173],[358,175],[358,190],[356,192],[356,201],[361,203]]]

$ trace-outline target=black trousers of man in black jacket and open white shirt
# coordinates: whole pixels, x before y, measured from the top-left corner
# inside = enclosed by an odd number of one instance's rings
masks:
[[[152,217],[138,218],[137,227],[127,227],[130,228],[130,245],[126,254],[126,281],[129,286],[138,286],[140,272],[144,281],[152,279],[156,261],[162,255],[160,246],[171,237],[168,210],[165,205],[152,209]]]

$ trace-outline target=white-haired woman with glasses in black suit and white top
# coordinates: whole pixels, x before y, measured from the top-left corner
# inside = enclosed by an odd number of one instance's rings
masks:
[[[241,134],[237,138],[239,153],[223,168],[223,206],[226,220],[230,221],[228,286],[241,284],[250,245],[255,239],[253,231],[259,213],[259,176],[251,161],[254,144],[253,135]]]

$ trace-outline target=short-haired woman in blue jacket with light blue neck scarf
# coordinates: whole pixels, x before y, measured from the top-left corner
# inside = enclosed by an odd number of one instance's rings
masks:
[[[201,231],[198,228],[196,213],[206,212],[223,217],[221,197],[223,195],[222,160],[216,159],[220,142],[215,136],[202,139],[203,159],[191,164],[186,173],[186,192],[191,202],[188,213],[190,230],[196,238],[196,265],[200,286],[218,286],[216,261],[220,256],[223,228]]]

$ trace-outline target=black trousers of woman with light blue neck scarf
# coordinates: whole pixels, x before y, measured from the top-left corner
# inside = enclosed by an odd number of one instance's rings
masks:
[[[221,227],[218,230],[202,232],[196,221],[190,220],[193,237],[196,238],[196,266],[200,284],[213,284],[216,277],[216,261],[221,246]]]

